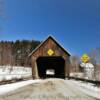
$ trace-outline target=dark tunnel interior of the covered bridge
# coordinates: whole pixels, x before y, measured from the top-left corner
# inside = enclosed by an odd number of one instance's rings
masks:
[[[65,78],[65,60],[62,57],[39,57],[36,62],[40,78]],[[54,70],[53,75],[46,74],[49,69]]]

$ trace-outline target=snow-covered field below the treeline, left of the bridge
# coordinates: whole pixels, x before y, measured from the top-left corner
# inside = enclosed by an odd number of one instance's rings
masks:
[[[0,81],[27,78],[32,75],[31,68],[21,66],[0,66]]]

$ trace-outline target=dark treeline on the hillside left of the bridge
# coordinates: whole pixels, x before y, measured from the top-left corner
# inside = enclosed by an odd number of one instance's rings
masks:
[[[29,66],[28,55],[40,41],[16,40],[0,42],[0,65]]]

